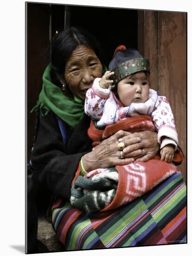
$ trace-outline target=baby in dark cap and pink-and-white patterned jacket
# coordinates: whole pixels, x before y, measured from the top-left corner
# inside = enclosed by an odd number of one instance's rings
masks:
[[[166,97],[150,88],[149,60],[133,48],[119,46],[109,70],[87,91],[85,113],[96,121],[97,128],[135,115],[151,116],[158,131],[161,161],[172,162],[178,145],[174,117]]]

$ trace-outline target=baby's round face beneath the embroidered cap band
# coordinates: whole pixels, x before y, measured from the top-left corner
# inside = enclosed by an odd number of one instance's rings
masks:
[[[137,72],[124,78],[117,84],[117,94],[124,106],[141,103],[149,97],[149,79],[145,72]]]

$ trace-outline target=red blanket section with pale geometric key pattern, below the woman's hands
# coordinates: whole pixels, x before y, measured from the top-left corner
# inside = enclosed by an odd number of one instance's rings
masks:
[[[124,166],[116,166],[119,182],[115,198],[104,211],[116,209],[135,198],[147,193],[157,184],[164,181],[179,169],[172,164],[159,160],[134,162]]]

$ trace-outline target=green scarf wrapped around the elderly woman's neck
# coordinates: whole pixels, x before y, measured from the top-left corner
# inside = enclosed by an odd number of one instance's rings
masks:
[[[106,67],[103,67],[106,70]],[[77,97],[71,99],[64,94],[58,86],[51,82],[51,64],[43,74],[43,87],[39,94],[38,102],[32,109],[40,109],[41,115],[47,115],[49,111],[54,112],[60,119],[65,121],[71,128],[75,128],[84,113],[84,101]]]

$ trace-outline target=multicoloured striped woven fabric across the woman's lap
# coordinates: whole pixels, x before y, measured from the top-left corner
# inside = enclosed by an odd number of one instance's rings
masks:
[[[57,199],[52,222],[66,250],[186,243],[186,185],[176,173],[119,209],[93,214]]]

